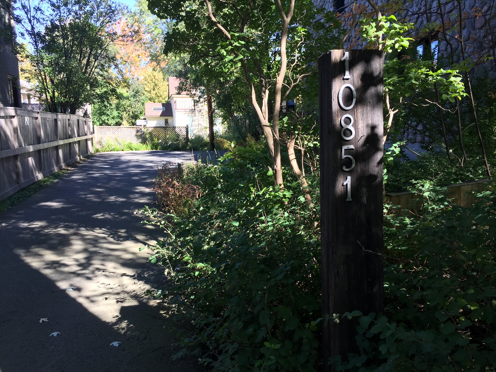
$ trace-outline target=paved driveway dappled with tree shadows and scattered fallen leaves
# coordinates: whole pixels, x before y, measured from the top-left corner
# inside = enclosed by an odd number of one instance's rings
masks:
[[[157,167],[190,157],[97,154],[0,213],[0,372],[200,371],[171,360],[172,315],[143,296],[164,275],[138,248],[161,232],[133,214]]]

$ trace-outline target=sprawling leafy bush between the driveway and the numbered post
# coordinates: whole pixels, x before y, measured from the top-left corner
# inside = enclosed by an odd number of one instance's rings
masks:
[[[168,236],[151,260],[173,279],[158,297],[182,309],[194,325],[183,346],[203,350],[215,371],[316,371],[318,216],[298,183],[272,186],[265,149],[235,148],[222,160],[187,170],[183,182],[202,193],[187,213],[148,210]]]

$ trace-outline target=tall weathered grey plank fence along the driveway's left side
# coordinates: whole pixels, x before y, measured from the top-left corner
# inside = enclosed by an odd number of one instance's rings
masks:
[[[0,108],[0,200],[93,152],[91,119]]]

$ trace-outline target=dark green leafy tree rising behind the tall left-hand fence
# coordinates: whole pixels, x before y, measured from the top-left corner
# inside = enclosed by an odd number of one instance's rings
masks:
[[[112,0],[21,0],[21,37],[32,67],[35,89],[46,96],[50,111],[74,114],[95,102],[106,84],[116,34],[110,28],[120,15]]]

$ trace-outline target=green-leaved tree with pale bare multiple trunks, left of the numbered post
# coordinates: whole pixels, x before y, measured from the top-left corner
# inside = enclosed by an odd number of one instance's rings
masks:
[[[311,62],[339,42],[334,14],[315,9],[311,0],[151,0],[148,6],[159,18],[173,20],[165,34],[166,54],[186,54],[190,66],[206,59],[209,74],[244,79],[244,95],[272,158],[274,182],[282,185],[281,103],[315,72]],[[291,165],[305,190],[298,165]]]

